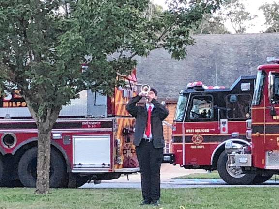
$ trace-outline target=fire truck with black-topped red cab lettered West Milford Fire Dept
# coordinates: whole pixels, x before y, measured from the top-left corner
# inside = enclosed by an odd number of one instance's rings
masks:
[[[257,183],[252,174],[228,164],[225,150],[228,142],[251,145],[246,120],[251,119],[255,79],[241,76],[230,88],[188,84],[179,94],[172,125],[173,153],[165,154],[164,162],[186,169],[218,170],[229,184]]]

